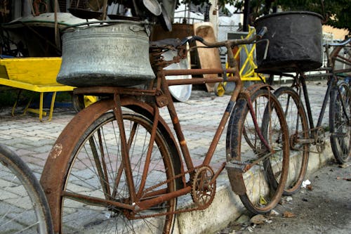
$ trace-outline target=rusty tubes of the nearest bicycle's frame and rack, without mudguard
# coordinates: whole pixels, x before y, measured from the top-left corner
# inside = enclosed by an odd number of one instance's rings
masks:
[[[251,100],[249,98],[249,91],[243,91],[242,89],[242,84],[241,84],[241,79],[239,77],[239,74],[237,74],[237,72],[235,72],[235,69],[227,69],[227,70],[219,70],[219,69],[214,69],[214,70],[204,70],[204,69],[192,69],[192,70],[161,70],[161,72],[159,72],[158,77],[159,79],[161,79],[161,90],[163,92],[163,95],[165,96],[164,98],[162,98],[163,100],[166,100],[167,104],[167,108],[168,108],[168,113],[172,119],[172,123],[173,123],[173,128],[176,131],[176,136],[178,139],[178,144],[180,145],[180,150],[182,152],[183,155],[183,159],[185,160],[185,164],[187,166],[187,169],[185,171],[183,171],[182,174],[180,175],[176,175],[176,177],[179,176],[185,176],[185,174],[190,174],[192,175],[195,171],[195,169],[199,168],[199,167],[203,167],[203,166],[208,166],[211,162],[211,159],[213,157],[213,153],[216,150],[216,146],[218,144],[218,141],[220,140],[220,136],[221,134],[223,134],[223,130],[225,129],[225,124],[227,123],[227,120],[230,117],[230,113],[232,112],[232,109],[234,108],[234,103],[237,100],[237,97],[239,96],[239,93],[243,93],[244,95],[247,96],[247,100],[248,100],[248,104],[250,107],[250,112],[251,115],[254,117],[254,110],[252,108],[252,103]],[[192,157],[190,156],[190,151],[187,148],[187,143],[185,141],[185,136],[183,135],[183,131],[181,129],[180,126],[180,122],[178,121],[178,115],[176,113],[176,108],[173,104],[173,100],[171,97],[171,93],[168,91],[168,86],[171,85],[181,85],[181,84],[204,84],[204,83],[215,83],[215,82],[223,82],[223,78],[208,78],[208,79],[204,79],[204,78],[198,78],[198,79],[167,79],[166,80],[166,76],[172,76],[172,75],[179,75],[179,74],[221,74],[223,72],[227,72],[227,73],[233,73],[233,74],[237,74],[234,75],[234,77],[230,77],[229,79],[227,79],[227,82],[235,82],[236,84],[236,89],[234,90],[234,92],[232,93],[232,96],[230,98],[229,103],[227,104],[227,108],[225,109],[225,112],[223,113],[223,117],[220,120],[220,123],[218,124],[218,128],[216,130],[216,134],[213,136],[213,139],[211,141],[211,144],[208,148],[208,152],[206,153],[206,156],[204,158],[204,161],[201,163],[201,165],[194,167],[194,164],[192,163]],[[269,89],[268,86],[266,84],[260,84],[260,85],[256,85],[254,90],[257,89]],[[122,146],[122,157],[124,160],[124,164],[125,167],[131,167],[130,166],[130,162],[129,162],[129,155],[128,155],[128,143],[126,140],[126,136],[124,134],[124,126],[123,123],[121,122],[122,119],[122,112],[121,112],[121,95],[137,95],[137,96],[145,96],[145,95],[151,95],[151,96],[157,96],[157,89],[153,89],[153,90],[143,90],[143,89],[124,89],[124,88],[112,88],[112,87],[103,87],[101,88],[77,88],[74,93],[76,94],[80,94],[80,93],[113,93],[114,94],[114,103],[115,103],[115,108],[114,108],[114,115],[116,116],[117,122],[119,124],[119,129],[121,131],[121,145]],[[157,128],[157,122],[159,121],[159,111],[158,111],[158,106],[154,105],[154,124],[153,124],[153,129],[152,129],[152,134],[151,134],[151,139],[150,139],[150,145],[152,145],[153,141],[154,141],[154,135],[156,132],[156,128]],[[254,118],[253,118],[254,119]],[[258,132],[258,136],[260,138],[261,141],[263,141],[264,145],[266,146],[267,149],[270,150],[270,152],[272,152],[272,149],[269,148],[267,141],[265,141],[265,139],[263,138],[262,133],[260,132],[260,127],[258,126],[257,122],[255,122],[255,128],[256,131]],[[147,157],[150,157],[151,152],[148,152]],[[258,162],[253,162],[252,164],[257,164]],[[246,165],[246,167],[249,169],[249,167],[252,167],[251,165]],[[216,181],[216,178],[219,176],[220,172],[223,171],[223,169],[225,168],[226,162],[223,162],[223,164],[221,165],[221,167],[218,169],[218,171],[216,171],[215,175],[213,176],[211,183],[213,183],[214,181]],[[126,170],[126,171],[131,171],[131,170]],[[146,176],[146,169],[144,171],[144,175]],[[144,178],[145,178],[144,176]],[[134,201],[137,200],[138,197],[138,192],[134,190],[133,187],[133,176],[131,174],[127,175],[128,177],[128,186],[130,186],[130,191],[131,191],[131,201],[132,203]],[[170,180],[173,180],[175,178],[170,178]],[[158,187],[163,185],[164,183],[167,183],[167,181],[161,181],[159,184],[153,186],[153,187]],[[157,197],[154,198],[150,198],[148,200],[143,200],[138,202],[138,204],[135,204],[134,206],[132,205],[126,205],[123,204],[121,202],[110,202],[110,204],[117,206],[117,207],[121,207],[124,209],[130,209],[132,212],[138,212],[140,210],[144,210],[144,209],[149,209],[150,207],[153,207],[165,200],[171,200],[175,197],[179,197],[181,195],[185,195],[187,193],[190,193],[192,189],[192,186],[187,185],[186,183],[184,184],[184,188],[181,188],[179,190],[177,190],[176,192],[173,193],[165,193],[166,191],[161,190],[159,194],[152,194],[152,196],[154,197],[155,195],[158,195]],[[152,197],[150,195],[150,197]],[[83,197],[81,197],[83,198]],[[89,197],[84,197],[85,199],[89,199]],[[106,201],[95,201],[98,203],[102,203],[106,205]],[[206,207],[201,207],[201,209],[206,209]],[[198,208],[194,208],[191,210],[198,210]],[[176,211],[176,213],[179,212],[188,212],[190,211],[189,209],[187,210],[181,210],[181,211]],[[161,215],[161,214],[160,214]],[[162,214],[164,215],[164,214]],[[137,218],[138,219],[138,218]]]

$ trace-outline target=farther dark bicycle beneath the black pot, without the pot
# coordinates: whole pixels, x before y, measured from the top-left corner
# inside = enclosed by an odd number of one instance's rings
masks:
[[[326,67],[312,70],[310,74],[306,74],[294,64],[289,66],[296,70],[295,74],[279,72],[279,75],[293,78],[291,86],[282,86],[274,91],[286,116],[291,155],[295,155],[289,163],[290,173],[284,195],[291,195],[299,190],[307,171],[309,152],[323,152],[325,148],[326,130],[322,126],[322,120],[328,101],[329,138],[333,155],[339,164],[347,162],[350,158],[351,90],[350,84],[343,79],[350,76],[351,72],[351,39],[324,44],[324,53]],[[328,82],[317,124],[314,125],[306,80],[315,77],[326,77]],[[310,149],[310,145],[314,145],[314,149]]]

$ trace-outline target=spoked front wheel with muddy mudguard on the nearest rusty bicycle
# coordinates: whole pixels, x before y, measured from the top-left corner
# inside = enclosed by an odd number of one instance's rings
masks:
[[[228,173],[235,175],[230,177],[232,188],[244,187],[238,194],[245,207],[254,214],[264,214],[277,204],[283,193],[289,141],[284,112],[275,96],[267,90],[257,91],[252,95],[252,104],[254,115],[244,98],[237,101],[232,112],[227,135],[233,138],[227,138],[227,144],[235,156],[234,162],[230,162],[237,166],[233,167],[234,171],[228,167]],[[258,131],[265,142],[258,137]],[[237,170],[240,168],[241,171]],[[270,176],[274,178],[275,186]]]

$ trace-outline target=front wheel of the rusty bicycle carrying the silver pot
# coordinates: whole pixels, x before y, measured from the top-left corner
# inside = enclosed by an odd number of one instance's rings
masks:
[[[282,108],[273,93],[270,93],[267,89],[260,89],[251,94],[251,101],[254,110],[256,110],[258,126],[262,126],[263,115],[267,104],[272,106],[271,118],[278,119],[279,129],[277,131],[282,133],[282,135],[279,135],[282,136],[279,145],[277,142],[272,141],[272,138],[268,137],[267,132],[263,133],[263,137],[268,141],[270,147],[275,146],[277,148],[276,153],[271,155],[274,157],[269,158],[270,160],[274,158],[278,159],[276,161],[277,167],[274,167],[274,172],[279,174],[279,183],[277,183],[276,188],[270,185],[262,161],[254,164],[253,167],[244,173],[238,169],[230,169],[230,167],[227,167],[227,171],[232,190],[239,195],[246,209],[253,214],[265,214],[277,205],[284,191],[289,172],[289,136]],[[243,134],[244,129],[246,136]],[[246,138],[249,138],[249,142],[255,145],[255,147],[248,145]],[[263,157],[267,153],[267,149],[263,146],[260,138],[258,138],[256,129],[254,129],[248,101],[244,96],[239,96],[230,116],[227,129],[227,150],[230,150],[227,152],[228,164],[239,162],[239,164],[245,165],[246,163],[260,159],[260,157]],[[279,165],[281,167],[278,167]]]

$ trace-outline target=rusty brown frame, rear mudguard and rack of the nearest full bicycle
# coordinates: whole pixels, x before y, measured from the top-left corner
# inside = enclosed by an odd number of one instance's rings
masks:
[[[239,42],[244,43],[241,40]],[[239,43],[238,42],[238,43]],[[251,41],[253,42],[253,41]],[[231,42],[232,43],[232,42]],[[232,44],[229,42],[225,44],[227,48],[230,48]],[[159,69],[157,73],[157,79],[154,82],[151,82],[147,89],[138,89],[138,88],[123,88],[123,87],[112,87],[112,86],[92,86],[85,88],[77,88],[74,90],[75,94],[84,94],[84,95],[95,95],[95,96],[113,96],[111,99],[100,100],[97,103],[93,103],[93,105],[79,112],[79,114],[72,119],[69,125],[72,124],[73,128],[65,128],[62,131],[62,134],[56,141],[53,146],[53,150],[51,150],[50,155],[48,156],[48,160],[46,162],[46,166],[43,171],[43,176],[41,176],[41,183],[46,189],[46,193],[48,194],[48,201],[50,203],[51,209],[53,210],[53,217],[55,221],[55,230],[60,229],[60,200],[62,197],[67,197],[70,200],[79,200],[81,203],[93,204],[94,206],[100,207],[115,207],[114,209],[122,209],[128,213],[128,219],[143,219],[145,216],[140,216],[141,211],[150,209],[157,204],[161,204],[165,201],[174,199],[176,197],[180,197],[181,195],[186,195],[192,192],[192,183],[191,181],[186,181],[185,175],[190,175],[190,180],[193,178],[193,175],[197,172],[197,169],[201,167],[209,167],[211,159],[213,157],[213,153],[216,150],[216,146],[220,141],[220,136],[223,134],[225,129],[225,125],[230,118],[231,112],[234,109],[234,104],[237,101],[239,95],[244,96],[247,100],[249,106],[249,112],[251,117],[254,119],[253,125],[258,138],[267,148],[266,154],[272,155],[274,153],[274,149],[270,148],[267,140],[263,137],[263,133],[261,132],[260,126],[258,126],[258,122],[256,121],[255,110],[253,110],[253,103],[251,103],[250,95],[251,93],[258,91],[258,89],[267,89],[270,90],[270,86],[267,84],[256,84],[251,86],[249,89],[245,89],[241,83],[241,79],[239,76],[239,70],[237,67],[237,63],[234,60],[234,56],[232,55],[232,50],[227,49],[228,51],[228,60],[231,64],[232,68],[229,69],[190,69],[190,70],[164,70],[161,61],[161,65],[157,67]],[[159,53],[157,51],[156,53]],[[178,55],[180,56],[180,55]],[[179,58],[173,58],[171,63],[177,63]],[[159,62],[159,61],[158,61]],[[166,61],[166,63],[169,61]],[[169,64],[169,63],[168,63]],[[164,66],[165,67],[165,66]],[[166,79],[167,77],[171,77],[174,75],[183,75],[183,74],[191,74],[191,75],[199,75],[199,74],[223,74],[223,73],[231,73],[234,74],[232,77],[227,77],[224,75],[223,77],[218,78],[197,78],[197,79]],[[236,84],[235,89],[230,97],[229,102],[227,103],[227,107],[223,113],[223,117],[218,124],[216,129],[216,133],[213,136],[211,144],[209,145],[208,151],[206,152],[206,156],[204,157],[204,161],[201,165],[195,167],[192,161],[192,157],[190,156],[190,150],[187,147],[187,143],[185,141],[185,136],[183,135],[183,131],[180,126],[180,122],[178,119],[178,115],[176,112],[176,108],[173,103],[173,99],[171,93],[168,90],[168,86],[172,85],[182,85],[182,84],[205,84],[205,83],[216,83],[216,82],[234,82]],[[150,101],[148,101],[147,97],[152,97]],[[143,100],[140,100],[143,98]],[[140,110],[140,113],[147,113],[145,117],[150,119],[152,122],[152,127],[150,128],[150,139],[147,141],[147,154],[145,155],[145,165],[150,164],[150,158],[152,157],[152,147],[150,145],[154,145],[154,141],[157,134],[157,129],[161,125],[163,129],[166,130],[166,133],[169,134],[170,139],[172,141],[171,146],[174,145],[178,155],[174,155],[175,157],[179,157],[180,161],[180,173],[172,176],[172,178],[166,178],[164,181],[157,181],[156,184],[151,186],[150,188],[146,186],[147,179],[147,171],[148,166],[146,165],[141,171],[141,182],[138,188],[135,188],[133,182],[133,174],[131,174],[132,166],[131,159],[129,155],[129,148],[131,145],[130,142],[133,139],[133,131],[131,131],[131,135],[129,139],[126,138],[126,131],[124,130],[124,114],[122,112],[122,108],[126,106],[126,108],[130,108],[131,110]],[[168,128],[168,125],[159,115],[159,108],[166,107],[168,109],[168,114],[171,117],[171,121],[173,124],[173,129],[175,130],[176,137],[173,136],[173,133]],[[62,190],[65,186],[65,175],[62,175],[62,171],[67,171],[70,167],[70,157],[72,157],[72,153],[77,144],[79,144],[79,139],[74,137],[74,134],[69,134],[71,131],[79,132],[79,134],[86,131],[86,127],[91,126],[96,119],[103,115],[105,112],[111,111],[114,113],[115,119],[117,119],[117,125],[119,129],[119,138],[121,141],[121,167],[120,169],[125,172],[126,183],[128,183],[128,202],[123,202],[121,200],[112,200],[110,197],[113,197],[112,191],[108,188],[108,181],[105,182],[105,174],[104,172],[104,163],[103,159],[98,159],[97,153],[92,153],[94,157],[95,163],[98,160],[102,160],[98,165],[98,176],[100,177],[100,183],[102,186],[102,190],[104,191],[105,198],[100,197],[92,197],[91,195],[82,195],[79,193],[70,193],[68,190]],[[99,113],[97,115],[96,113]],[[143,114],[144,115],[144,114]],[[83,122],[82,122],[83,120]],[[85,121],[86,120],[86,121]],[[98,132],[97,132],[98,133]],[[67,137],[66,137],[67,136]],[[100,137],[100,136],[99,136]],[[99,142],[100,143],[100,142]],[[62,145],[65,145],[62,148]],[[91,148],[96,148],[95,145],[91,146]],[[180,149],[180,150],[179,150]],[[94,149],[93,149],[94,150]],[[181,151],[181,153],[179,152]],[[245,164],[244,168],[241,168],[241,173],[244,173],[246,170],[250,169],[253,165],[258,164],[262,160],[267,158],[267,156],[263,155],[260,159],[249,162],[249,164]],[[178,158],[176,159],[178,161]],[[183,168],[183,161],[185,162],[186,169]],[[224,160],[225,161],[225,160]],[[219,167],[218,171],[211,176],[209,184],[216,183],[216,178],[220,175],[220,172],[225,169],[227,162],[223,162],[223,164]],[[235,162],[234,162],[235,164]],[[240,165],[241,166],[241,165]],[[211,169],[211,167],[210,167]],[[211,169],[212,170],[212,169]],[[53,181],[56,181],[55,185],[53,185]],[[167,191],[165,188],[161,188],[164,184],[170,183],[171,181],[176,181],[177,188],[173,190],[173,192]],[[178,182],[180,181],[181,184]],[[238,191],[236,190],[235,193]],[[191,210],[199,210],[206,209],[211,202],[208,202],[204,205],[195,206],[194,208],[182,209],[182,210],[174,210],[172,212],[168,212],[169,214],[178,214],[180,212],[189,212]],[[168,214],[167,212],[160,212],[159,214],[152,214],[152,216],[163,216]],[[147,216],[147,215],[146,215]]]

